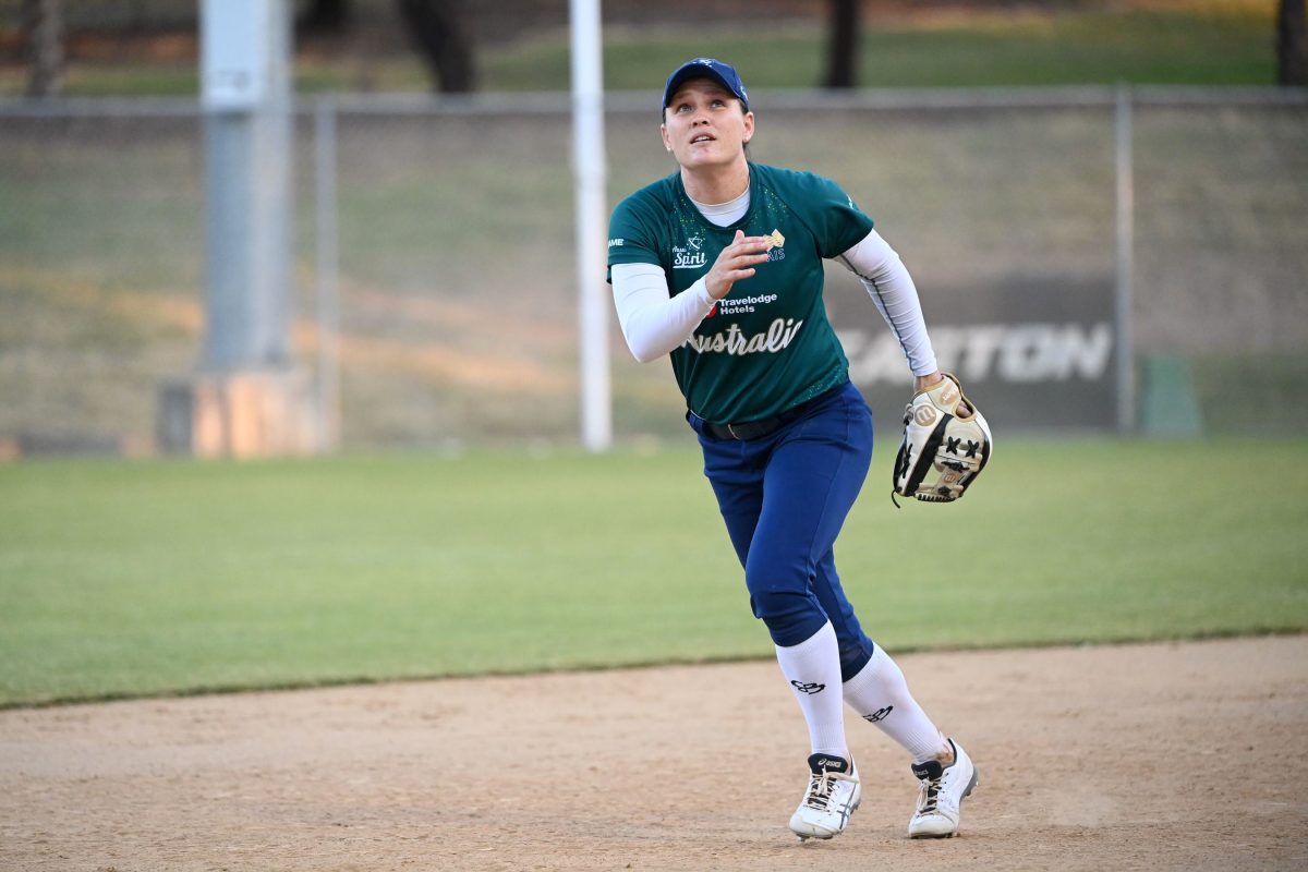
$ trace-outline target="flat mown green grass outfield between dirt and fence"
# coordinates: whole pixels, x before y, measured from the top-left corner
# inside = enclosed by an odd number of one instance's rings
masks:
[[[1301,631],[1305,448],[883,444],[837,553],[892,650]],[[770,655],[689,447],[0,465],[0,706]]]

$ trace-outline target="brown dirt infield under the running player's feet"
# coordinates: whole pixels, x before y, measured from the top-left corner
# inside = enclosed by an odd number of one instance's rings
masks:
[[[786,829],[807,733],[776,664],[0,713],[0,869],[1301,869],[1308,637],[899,658],[981,783],[913,842]]]

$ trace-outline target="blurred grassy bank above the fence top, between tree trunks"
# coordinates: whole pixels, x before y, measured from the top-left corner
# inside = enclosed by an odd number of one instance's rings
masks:
[[[863,22],[862,86],[1002,86],[1142,84],[1270,85],[1274,4],[1266,0],[1141,3],[1131,8],[985,10],[922,9]],[[756,20],[731,26],[610,26],[604,80],[615,90],[653,90],[687,58],[736,63],[751,88],[812,88],[821,82],[823,25]],[[97,60],[68,68],[67,93],[80,97],[191,95],[194,58]],[[483,46],[481,89],[566,90],[568,34],[551,30]],[[22,93],[25,72],[0,71],[0,95]],[[378,58],[306,51],[296,88],[317,92],[425,90],[429,78],[407,51]]]

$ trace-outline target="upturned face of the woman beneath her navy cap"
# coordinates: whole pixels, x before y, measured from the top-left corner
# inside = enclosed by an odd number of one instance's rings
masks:
[[[692,78],[663,110],[663,145],[688,170],[743,159],[753,136],[753,112],[712,78]]]

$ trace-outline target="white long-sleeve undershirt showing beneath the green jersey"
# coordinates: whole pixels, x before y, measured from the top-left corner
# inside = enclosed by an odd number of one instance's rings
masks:
[[[701,208],[701,212],[706,209]],[[705,217],[714,222],[721,220],[717,214]],[[876,311],[904,349],[913,375],[937,371],[917,286],[889,243],[871,230],[836,260],[863,282]],[[681,345],[717,302],[709,295],[704,278],[668,297],[667,276],[662,267],[654,264],[615,264],[612,280],[617,322],[628,348],[641,362],[657,360]]]

